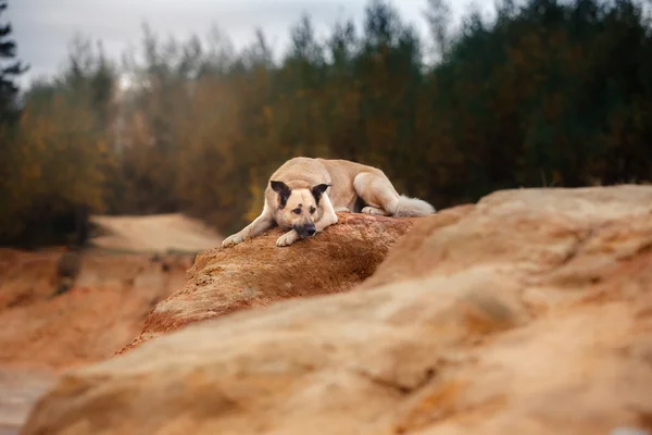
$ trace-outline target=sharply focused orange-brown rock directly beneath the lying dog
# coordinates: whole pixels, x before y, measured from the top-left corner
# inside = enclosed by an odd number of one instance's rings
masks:
[[[280,299],[349,290],[374,273],[413,222],[353,213],[338,216],[337,225],[289,249],[275,245],[283,231],[274,228],[235,247],[200,253],[186,286],[154,308],[142,334],[120,353],[189,323]]]

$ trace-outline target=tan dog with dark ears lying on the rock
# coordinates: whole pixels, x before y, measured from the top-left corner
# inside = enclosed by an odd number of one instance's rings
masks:
[[[222,247],[240,244],[276,225],[287,231],[276,246],[290,246],[336,224],[340,211],[418,217],[436,210],[424,200],[399,195],[379,169],[348,160],[297,157],[269,177],[262,213],[224,239]]]

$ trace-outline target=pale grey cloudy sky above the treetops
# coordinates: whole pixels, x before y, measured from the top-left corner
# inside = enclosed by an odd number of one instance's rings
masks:
[[[452,0],[454,15],[469,4],[490,9],[492,0]],[[204,36],[212,25],[226,33],[237,48],[253,39],[256,26],[264,29],[275,51],[287,44],[291,24],[308,12],[324,32],[340,17],[361,23],[367,0],[9,0],[0,22],[11,21],[20,58],[32,65],[26,83],[61,66],[75,33],[100,38],[105,51],[117,58],[138,44],[146,21],[161,35],[185,38]],[[404,21],[426,33],[426,0],[394,0]]]

